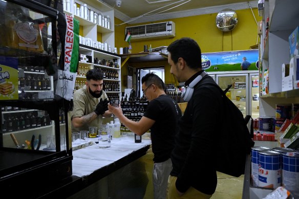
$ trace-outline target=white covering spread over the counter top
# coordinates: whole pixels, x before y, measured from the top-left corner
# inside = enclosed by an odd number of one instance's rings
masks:
[[[120,137],[111,140],[111,147],[100,148],[98,144],[73,151],[73,175],[89,175],[101,167],[107,166],[129,155],[133,151],[152,144],[150,139],[135,143],[134,137]]]

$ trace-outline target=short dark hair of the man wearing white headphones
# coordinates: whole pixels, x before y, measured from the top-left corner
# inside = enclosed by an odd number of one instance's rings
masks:
[[[171,54],[171,59],[177,63],[182,57],[189,68],[201,69],[201,50],[198,43],[189,37],[183,37],[172,42],[167,51]]]

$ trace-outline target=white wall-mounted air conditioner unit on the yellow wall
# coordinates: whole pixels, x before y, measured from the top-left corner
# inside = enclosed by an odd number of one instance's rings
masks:
[[[174,21],[166,21],[156,24],[125,27],[125,33],[130,32],[131,40],[145,40],[153,38],[176,36],[176,26]]]

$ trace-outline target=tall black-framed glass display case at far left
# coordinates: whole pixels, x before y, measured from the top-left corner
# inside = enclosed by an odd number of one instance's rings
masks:
[[[72,174],[70,102],[55,95],[57,10],[1,0],[0,15],[0,187],[35,198]]]

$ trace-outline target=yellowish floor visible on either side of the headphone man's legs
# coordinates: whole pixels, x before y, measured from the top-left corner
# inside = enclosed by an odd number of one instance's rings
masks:
[[[148,150],[147,154],[141,158],[146,165],[146,173],[148,182],[144,199],[153,199],[153,183],[152,183],[152,169],[153,169],[153,152]],[[239,178],[234,178],[224,173],[217,173],[218,183],[216,192],[211,199],[241,199],[243,192],[244,175]]]

